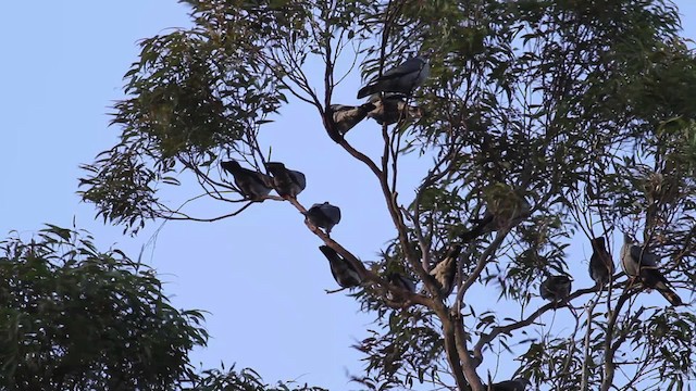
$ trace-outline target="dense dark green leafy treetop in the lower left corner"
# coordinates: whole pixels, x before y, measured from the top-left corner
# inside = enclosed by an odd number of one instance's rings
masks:
[[[208,335],[154,272],[84,232],[48,226],[0,242],[3,390],[164,390]]]

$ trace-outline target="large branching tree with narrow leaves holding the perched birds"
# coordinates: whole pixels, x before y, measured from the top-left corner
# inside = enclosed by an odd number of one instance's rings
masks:
[[[83,198],[105,220],[135,234],[156,218],[241,213],[259,200],[220,163],[265,172],[264,126],[285,104],[309,104],[374,174],[394,223],[369,265],[308,224],[357,270],[356,300],[382,326],[357,346],[366,362],[357,381],[477,391],[496,361],[513,358],[519,376],[548,389],[681,389],[694,377],[694,314],[645,303],[623,273],[530,307],[547,277],[569,273],[572,241],[592,251],[591,239],[611,244],[621,231],[642,234],[679,292],[694,289],[696,59],[670,1],[185,2],[196,26],[142,41],[115,105],[121,141],[84,166]],[[415,52],[432,53],[430,78],[408,97],[425,115],[374,125],[383,154],[373,160],[336,126],[337,70],[358,62],[373,77]],[[433,163],[405,200],[396,188],[409,153]],[[177,171],[200,185],[190,201],[239,206],[199,217],[166,204],[157,189],[178,185]],[[448,255],[451,297],[430,274]],[[484,288],[520,311],[482,312],[472,297]],[[570,330],[527,337],[552,311]]]

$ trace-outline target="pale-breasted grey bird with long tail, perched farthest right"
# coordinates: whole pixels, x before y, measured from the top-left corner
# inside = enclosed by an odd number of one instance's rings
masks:
[[[636,244],[626,232],[621,247],[621,268],[632,279],[638,279],[644,287],[656,289],[670,304],[682,305],[682,299],[669,287],[664,275],[658,269],[660,257],[648,251],[646,245]]]

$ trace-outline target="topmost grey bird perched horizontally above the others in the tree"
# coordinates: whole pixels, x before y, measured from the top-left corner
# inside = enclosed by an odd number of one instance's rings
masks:
[[[377,92],[400,92],[411,94],[413,89],[430,76],[431,67],[425,55],[406,60],[399,66],[373,78],[358,91],[358,99]]]

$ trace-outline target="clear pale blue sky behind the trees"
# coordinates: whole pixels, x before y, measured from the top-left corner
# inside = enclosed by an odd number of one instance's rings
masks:
[[[696,2],[676,3],[685,35],[696,37]],[[108,113],[123,97],[122,76],[139,52],[137,40],[188,25],[186,8],[173,1],[3,4],[0,235],[14,229],[29,238],[44,223],[70,227],[75,219],[101,249],[115,244],[137,257],[146,244],[145,261],[167,282],[174,305],[211,313],[212,338],[208,349],[195,352],[196,363],[209,368],[236,362],[266,381],[358,389],[348,384],[347,371],[360,374],[362,367],[350,345],[365,337],[372,317],[343,293],[324,292],[336,285],[316,250],[321,243],[289,204],[265,202],[212,224],[172,222],[159,235],[159,224],[150,224],[128,238],[120,227],[95,220],[94,206],[75,194],[78,165],[115,143],[119,129],[108,127]],[[340,103],[355,102],[358,72],[351,78],[338,90],[346,100]],[[290,109],[264,136],[265,146],[273,144],[274,159],[307,174],[302,203],[341,207],[334,237],[363,260],[374,257],[393,235],[374,178],[339,153],[314,113]],[[362,125],[349,135],[375,155],[371,136]],[[405,195],[415,178],[401,184]],[[229,212],[225,207],[211,204],[206,212],[220,215]],[[586,273],[586,264],[580,268]]]

